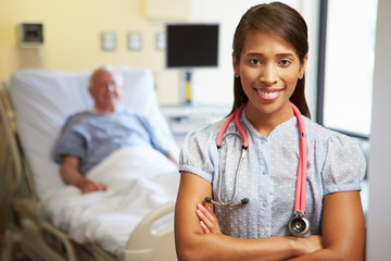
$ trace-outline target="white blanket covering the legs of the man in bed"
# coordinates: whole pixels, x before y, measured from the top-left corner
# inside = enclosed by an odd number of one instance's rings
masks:
[[[87,176],[106,184],[108,190],[85,195],[73,186],[50,190],[40,200],[39,215],[73,240],[94,243],[118,257],[149,212],[175,201],[179,184],[177,166],[149,148],[115,151]]]

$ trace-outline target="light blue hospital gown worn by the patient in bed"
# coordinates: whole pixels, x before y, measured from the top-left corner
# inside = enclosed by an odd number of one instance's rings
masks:
[[[167,153],[169,145],[163,133],[152,127],[142,114],[121,108],[113,114],[85,111],[71,116],[54,147],[54,161],[72,154],[80,159],[86,174],[111,152],[130,146],[151,147]]]

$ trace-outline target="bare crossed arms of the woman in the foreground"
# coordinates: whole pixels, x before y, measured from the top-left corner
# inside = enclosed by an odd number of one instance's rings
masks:
[[[241,239],[219,233],[212,210],[202,203],[211,184],[182,173],[175,213],[179,260],[363,260],[364,217],[360,192],[324,199],[323,236]]]

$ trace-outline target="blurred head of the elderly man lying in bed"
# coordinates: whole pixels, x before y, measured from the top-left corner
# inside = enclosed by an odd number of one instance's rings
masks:
[[[122,89],[111,72],[100,70],[91,76],[90,94],[94,99],[96,110],[114,112],[118,105]]]

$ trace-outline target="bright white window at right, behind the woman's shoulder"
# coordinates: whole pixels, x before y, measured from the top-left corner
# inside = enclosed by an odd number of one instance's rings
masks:
[[[323,0],[321,14],[317,121],[368,137],[377,0]]]

